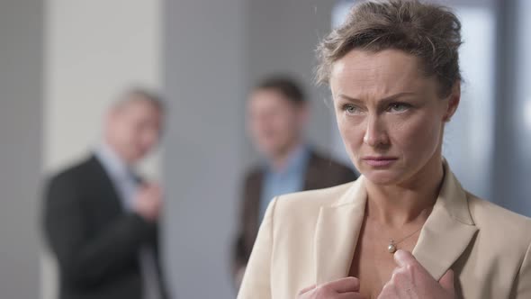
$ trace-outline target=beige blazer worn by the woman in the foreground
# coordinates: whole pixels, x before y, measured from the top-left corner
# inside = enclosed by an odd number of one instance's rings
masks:
[[[413,255],[437,280],[452,268],[458,298],[530,299],[531,219],[467,193],[445,168]],[[238,299],[294,299],[305,286],[347,276],[364,219],[364,182],[275,198]]]

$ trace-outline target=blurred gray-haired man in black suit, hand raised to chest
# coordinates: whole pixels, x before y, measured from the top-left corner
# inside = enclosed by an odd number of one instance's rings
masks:
[[[58,260],[60,299],[166,299],[158,254],[162,191],[134,172],[159,140],[164,104],[127,91],[106,115],[103,140],[51,177],[44,234]]]

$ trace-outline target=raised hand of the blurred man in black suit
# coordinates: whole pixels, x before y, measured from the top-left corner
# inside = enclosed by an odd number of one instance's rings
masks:
[[[148,222],[155,222],[162,206],[162,188],[155,183],[144,184],[133,203],[133,210]]]

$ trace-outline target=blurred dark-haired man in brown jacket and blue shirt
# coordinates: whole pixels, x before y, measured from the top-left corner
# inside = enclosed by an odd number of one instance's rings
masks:
[[[351,168],[316,152],[305,142],[303,131],[308,118],[302,89],[290,77],[268,77],[251,92],[247,127],[264,161],[249,169],[243,182],[232,264],[237,287],[271,199],[356,179]]]

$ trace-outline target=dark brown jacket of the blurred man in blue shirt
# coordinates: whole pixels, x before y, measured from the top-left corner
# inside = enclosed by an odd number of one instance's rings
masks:
[[[354,181],[356,178],[356,173],[351,168],[347,168],[332,159],[325,158],[312,151],[306,170],[303,190],[337,186]],[[240,267],[247,265],[247,260],[257,239],[258,227],[260,225],[259,209],[263,179],[263,168],[254,168],[245,177],[238,236],[235,242],[233,256],[232,270],[234,274],[236,274]]]

